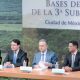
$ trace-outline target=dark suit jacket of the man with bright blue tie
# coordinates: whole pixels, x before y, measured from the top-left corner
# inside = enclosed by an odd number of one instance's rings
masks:
[[[9,51],[7,56],[5,57],[3,63],[5,62],[11,62],[13,64],[13,51]],[[17,55],[17,60],[16,60],[16,64],[15,67],[19,67],[23,65],[23,61],[26,60],[27,64],[28,64],[28,58],[27,58],[27,53],[25,53],[23,50],[19,50],[18,55]]]

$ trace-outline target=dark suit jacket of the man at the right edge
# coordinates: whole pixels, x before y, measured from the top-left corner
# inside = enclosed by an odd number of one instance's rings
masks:
[[[64,66],[69,66],[71,67],[71,53],[67,54],[64,59]],[[74,62],[74,67],[72,67],[72,71],[78,71],[80,70],[80,52],[77,52],[75,56],[75,62]]]

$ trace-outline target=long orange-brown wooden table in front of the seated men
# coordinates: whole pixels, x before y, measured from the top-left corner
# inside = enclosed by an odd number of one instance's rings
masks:
[[[37,80],[80,80],[80,71],[65,74],[54,74],[51,70],[39,71],[33,69],[32,72],[23,72],[20,68],[5,68],[0,70],[0,77],[28,78]]]

